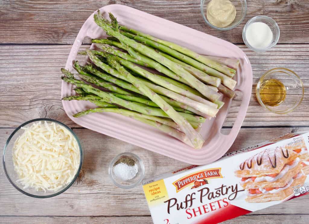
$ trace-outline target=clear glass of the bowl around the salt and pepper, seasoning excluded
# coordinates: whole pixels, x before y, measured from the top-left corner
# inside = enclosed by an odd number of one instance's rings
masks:
[[[114,172],[114,169],[113,169],[114,164],[121,157],[129,157],[129,158],[133,159],[134,162],[138,166],[138,173],[131,180],[122,180]],[[137,155],[130,153],[130,152],[125,152],[125,153],[121,153],[121,154],[117,155],[115,158],[112,159],[111,163],[109,164],[108,174],[109,174],[109,177],[112,179],[112,181],[114,182],[114,184],[117,187],[128,189],[128,188],[133,188],[133,187],[137,186],[139,183],[141,183],[141,181],[144,178],[145,167],[144,167],[143,161]]]

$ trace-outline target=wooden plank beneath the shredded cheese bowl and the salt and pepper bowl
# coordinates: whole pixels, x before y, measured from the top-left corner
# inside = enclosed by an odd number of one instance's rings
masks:
[[[0,214],[6,216],[145,216],[150,215],[141,184],[123,190],[112,184],[108,164],[119,153],[129,151],[140,156],[146,166],[145,178],[172,171],[188,164],[101,135],[88,129],[73,129],[85,147],[85,160],[78,180],[66,192],[49,199],[35,199],[18,192],[7,180],[0,167]],[[246,128],[241,129],[231,151],[262,142],[285,133],[306,128]],[[12,129],[0,129],[0,154]],[[227,133],[229,129],[223,129]],[[256,133],[259,133],[258,135]],[[95,139],[95,141],[94,141]],[[253,214],[309,214],[308,196],[256,211]],[[1,220],[1,218],[0,218]],[[121,220],[121,219],[120,219]]]

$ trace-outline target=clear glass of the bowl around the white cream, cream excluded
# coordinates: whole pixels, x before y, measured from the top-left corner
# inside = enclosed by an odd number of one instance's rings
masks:
[[[263,49],[254,48],[248,43],[248,40],[246,38],[247,28],[249,27],[250,24],[255,23],[255,22],[266,23],[269,26],[269,28],[271,29],[271,31],[273,32],[273,40],[271,41],[271,43],[266,48],[263,48]],[[279,37],[280,37],[280,29],[279,29],[278,24],[276,23],[275,20],[273,20],[272,18],[270,18],[266,15],[258,15],[258,16],[251,18],[246,23],[246,25],[243,27],[243,42],[246,44],[246,46],[249,49],[251,49],[255,52],[263,52],[263,51],[267,51],[267,50],[273,48],[278,43]]]

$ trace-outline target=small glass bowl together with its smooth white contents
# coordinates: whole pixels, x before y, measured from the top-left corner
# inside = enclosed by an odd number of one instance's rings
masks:
[[[279,37],[278,24],[266,15],[251,18],[243,27],[243,42],[255,52],[273,48],[278,43]]]

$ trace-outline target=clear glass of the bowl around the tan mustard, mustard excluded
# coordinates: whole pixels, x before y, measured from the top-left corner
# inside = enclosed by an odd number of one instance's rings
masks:
[[[207,5],[210,2],[210,0],[201,0],[201,14],[203,16],[203,19],[205,21],[205,23],[216,29],[216,30],[230,30],[233,29],[234,27],[237,27],[239,25],[239,23],[241,23],[243,21],[243,19],[246,16],[247,13],[247,2],[246,0],[230,0],[230,2],[232,2],[232,4],[235,6],[236,9],[236,17],[234,19],[234,21],[223,28],[220,27],[216,27],[213,24],[211,24],[208,19],[207,19]]]

